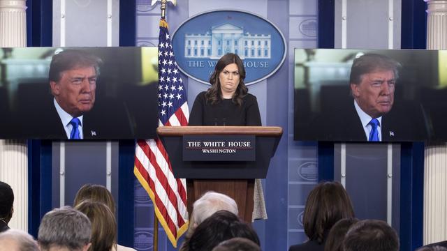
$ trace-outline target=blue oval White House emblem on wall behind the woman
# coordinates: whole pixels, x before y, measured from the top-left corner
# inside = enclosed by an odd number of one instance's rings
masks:
[[[172,36],[179,69],[208,84],[221,56],[232,52],[244,61],[245,84],[272,75],[286,59],[286,40],[263,17],[236,10],[217,10],[191,17]]]

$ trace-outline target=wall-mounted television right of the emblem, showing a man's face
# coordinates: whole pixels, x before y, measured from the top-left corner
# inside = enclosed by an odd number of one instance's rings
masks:
[[[294,79],[295,140],[447,141],[447,51],[295,49]]]

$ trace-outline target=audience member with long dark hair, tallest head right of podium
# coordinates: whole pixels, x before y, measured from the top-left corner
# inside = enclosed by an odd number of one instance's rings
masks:
[[[339,182],[316,185],[307,197],[303,223],[309,241],[291,245],[289,251],[324,250],[330,229],[343,218],[354,218],[354,211],[346,190]]]

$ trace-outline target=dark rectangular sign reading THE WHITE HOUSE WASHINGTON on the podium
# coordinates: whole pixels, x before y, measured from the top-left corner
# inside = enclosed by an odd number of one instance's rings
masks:
[[[255,161],[254,135],[184,135],[183,161]]]

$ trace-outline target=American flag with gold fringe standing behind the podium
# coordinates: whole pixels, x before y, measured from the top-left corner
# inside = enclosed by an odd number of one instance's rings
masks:
[[[161,18],[159,35],[159,126],[187,126],[189,109],[170,42],[168,23]],[[174,178],[160,139],[138,140],[133,173],[154,204],[154,211],[171,243],[188,228],[186,181]]]

